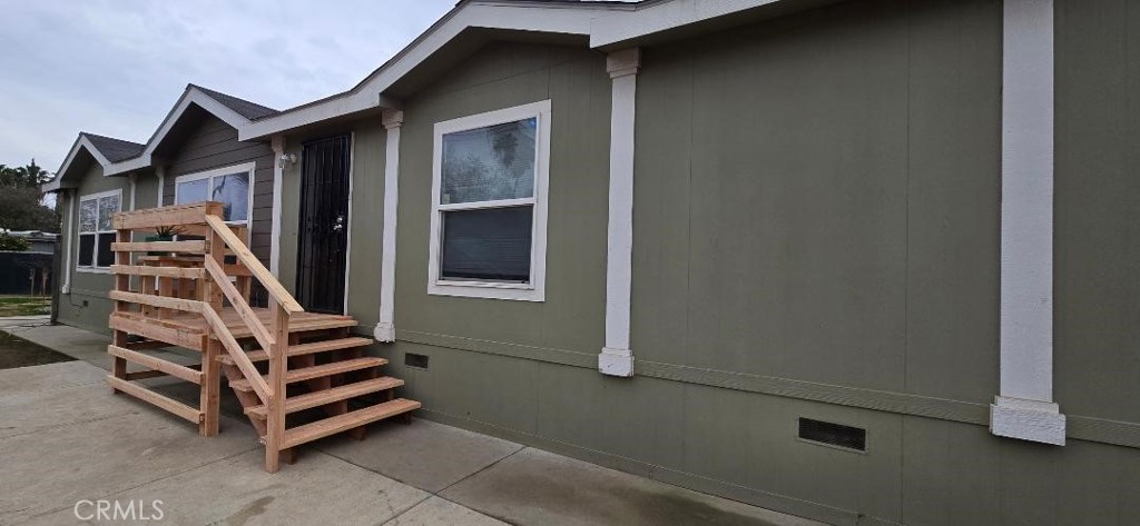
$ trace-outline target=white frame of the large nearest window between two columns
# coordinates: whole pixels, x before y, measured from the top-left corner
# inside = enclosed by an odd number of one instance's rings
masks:
[[[443,135],[448,133],[494,126],[526,118],[536,118],[535,137],[535,194],[523,199],[494,202],[440,204],[443,165]],[[437,296],[462,296],[491,299],[516,299],[526,302],[546,301],[546,202],[551,166],[551,101],[543,100],[513,108],[470,115],[435,123],[432,159],[432,206],[431,238],[427,257],[427,294]],[[495,281],[459,281],[440,279],[440,255],[442,243],[442,217],[445,212],[456,209],[500,208],[516,205],[532,205],[530,244],[530,282],[510,283]]]

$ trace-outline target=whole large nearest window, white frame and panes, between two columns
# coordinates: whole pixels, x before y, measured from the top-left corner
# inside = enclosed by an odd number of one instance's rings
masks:
[[[435,124],[427,293],[544,299],[551,102]]]

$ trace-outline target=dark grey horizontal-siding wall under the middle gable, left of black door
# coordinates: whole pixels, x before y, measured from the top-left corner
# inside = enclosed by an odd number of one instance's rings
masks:
[[[213,115],[206,115],[170,155],[166,164],[163,204],[174,204],[174,186],[179,175],[207,170],[256,163],[253,180],[253,207],[250,214],[252,243],[250,249],[269,266],[274,205],[274,150],[264,142],[241,142],[237,130]]]

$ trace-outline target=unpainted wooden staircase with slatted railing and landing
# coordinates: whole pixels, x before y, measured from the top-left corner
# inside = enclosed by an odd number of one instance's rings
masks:
[[[198,425],[203,436],[219,432],[221,377],[234,389],[266,446],[266,470],[292,463],[295,447],[347,432],[363,439],[367,424],[401,417],[420,402],[397,398],[404,380],[384,377],[386,360],[364,354],[370,338],[350,336],[350,317],[306,312],[242,241],[244,227],[226,224],[214,202],[116,214],[115,302],[107,352],[116,393],[149,402]],[[136,243],[133,232],[177,227],[202,240]],[[162,253],[154,255],[154,253]],[[135,255],[135,253],[149,253]],[[253,282],[268,306],[250,304]],[[202,362],[181,365],[146,351],[181,346]],[[128,372],[128,362],[142,368]],[[153,391],[136,380],[170,376],[199,386],[198,406]],[[291,426],[291,424],[293,424]]]

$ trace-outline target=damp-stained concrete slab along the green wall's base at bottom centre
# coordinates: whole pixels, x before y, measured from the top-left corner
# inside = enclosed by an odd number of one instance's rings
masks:
[[[519,525],[820,525],[527,447],[440,493]]]

